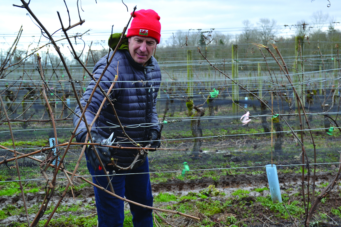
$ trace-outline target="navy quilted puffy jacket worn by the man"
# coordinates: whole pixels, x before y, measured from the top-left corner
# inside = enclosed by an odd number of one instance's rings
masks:
[[[110,53],[109,58],[113,52]],[[93,76],[98,79],[106,66],[107,56],[101,58],[93,69]],[[129,50],[118,49],[113,61],[110,63],[108,69],[104,73],[100,86],[104,91],[108,91],[112,84],[112,81],[118,75],[118,80],[115,87],[112,89],[109,97],[113,100],[113,104],[117,113],[117,116],[124,127],[127,135],[137,143],[143,145],[148,141],[148,133],[150,129],[160,131],[158,125],[158,116],[156,112],[156,98],[161,82],[160,67],[154,57],[151,57],[147,66],[136,63],[129,54]],[[89,99],[91,92],[93,91],[95,82],[90,82],[86,91],[81,99],[83,107],[86,105],[86,101]],[[85,113],[87,123],[90,124],[94,119],[95,113],[97,113],[104,95],[99,88],[96,89],[91,103]],[[77,106],[75,112],[80,116],[81,112]],[[74,115],[73,124],[76,126],[79,118]],[[81,121],[78,130],[79,133],[76,136],[77,142],[85,138],[86,128],[84,121]],[[121,145],[122,147],[134,147],[131,142],[125,138],[121,127],[114,115],[113,109],[108,105],[108,101],[104,104],[99,118],[95,121],[91,129],[92,132],[96,132],[108,138],[114,132],[115,143],[114,145]],[[122,167],[129,166],[137,151],[134,149],[118,149],[111,152],[117,164]],[[143,160],[137,162],[136,167],[142,165],[146,157]]]

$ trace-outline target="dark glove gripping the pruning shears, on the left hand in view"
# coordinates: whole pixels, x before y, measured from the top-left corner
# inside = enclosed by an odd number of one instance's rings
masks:
[[[97,133],[91,133],[91,135],[92,135],[92,140],[95,143],[106,142],[106,140],[107,140],[103,136],[101,136]],[[88,141],[90,141],[90,140],[88,140]],[[102,163],[106,167],[106,165],[111,162],[110,149],[107,147],[100,147],[97,145],[95,145],[95,148],[97,150],[98,155],[100,156],[100,158],[102,160]],[[102,167],[100,165],[100,161],[97,159],[97,156],[96,156],[95,152],[93,151],[91,145],[87,145],[86,152],[87,152],[88,160],[89,160],[92,168],[94,170],[101,170]]]

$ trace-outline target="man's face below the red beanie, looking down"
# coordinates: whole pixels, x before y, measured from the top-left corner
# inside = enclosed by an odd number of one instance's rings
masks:
[[[144,65],[152,56],[156,48],[156,40],[151,37],[132,36],[128,38],[128,46],[131,57],[138,64]]]

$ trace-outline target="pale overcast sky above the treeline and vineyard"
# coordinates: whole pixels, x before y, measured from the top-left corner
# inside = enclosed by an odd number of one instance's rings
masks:
[[[312,14],[322,11],[329,14],[333,21],[341,20],[340,0],[79,0],[81,2],[80,16],[85,19],[82,26],[77,26],[69,34],[91,31],[84,36],[84,40],[107,40],[114,25],[114,32],[121,32],[129,20],[130,13],[136,5],[137,10],[153,9],[161,17],[161,42],[178,30],[184,32],[189,29],[211,29],[228,34],[239,34],[243,28],[242,21],[249,20],[257,26],[260,18],[274,19],[277,25],[282,26],[279,31],[282,35],[292,34],[284,25],[295,25],[298,21],[312,21]],[[77,0],[66,0],[71,15],[71,24],[79,21]],[[1,0],[0,12],[0,48],[8,48],[14,40],[20,26],[23,25],[22,45],[37,42],[40,29],[34,25],[26,9],[15,7],[21,5],[20,0]],[[63,0],[31,0],[30,8],[50,31],[60,28],[57,11],[60,12],[63,24],[69,24],[68,15]],[[328,20],[327,22],[330,22]],[[326,25],[328,26],[328,25]],[[341,29],[340,24],[335,28]],[[60,33],[56,33],[60,34]],[[98,43],[98,42],[97,42]]]

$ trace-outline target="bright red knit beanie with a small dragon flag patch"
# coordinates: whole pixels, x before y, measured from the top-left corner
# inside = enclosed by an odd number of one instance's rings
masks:
[[[128,29],[127,37],[146,36],[152,37],[157,43],[160,43],[160,16],[154,10],[139,10],[133,15],[130,29]]]

